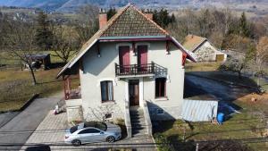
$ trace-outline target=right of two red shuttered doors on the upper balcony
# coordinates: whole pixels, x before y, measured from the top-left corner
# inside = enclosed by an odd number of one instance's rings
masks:
[[[147,71],[147,46],[138,46],[138,71]]]

